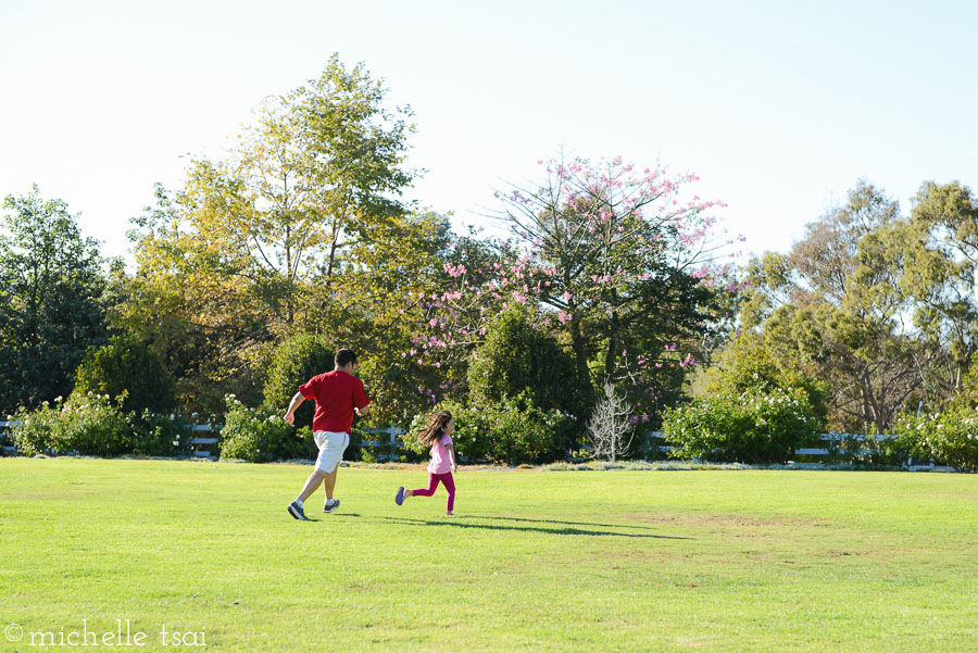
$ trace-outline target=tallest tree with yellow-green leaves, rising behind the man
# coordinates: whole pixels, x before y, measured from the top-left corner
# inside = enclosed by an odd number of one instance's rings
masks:
[[[404,166],[414,127],[385,96],[362,65],[334,56],[318,78],[267,100],[226,158],[192,161],[184,187],[158,189],[134,221],[138,271],[117,319],[156,343],[185,402],[202,388],[211,404],[227,391],[256,401],[274,344],[293,334],[354,343],[377,303],[373,288],[351,294],[351,279],[375,240],[431,224],[399,198],[415,176]],[[391,255],[416,269],[417,258]]]

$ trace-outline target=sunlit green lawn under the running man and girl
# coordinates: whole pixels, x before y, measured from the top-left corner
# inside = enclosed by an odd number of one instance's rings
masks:
[[[978,651],[978,475],[308,472],[0,460],[0,651]]]

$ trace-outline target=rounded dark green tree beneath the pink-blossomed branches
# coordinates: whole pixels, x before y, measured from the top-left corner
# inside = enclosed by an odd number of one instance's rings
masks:
[[[514,307],[489,327],[486,340],[468,366],[469,397],[476,403],[523,395],[543,411],[577,417],[587,412],[587,390],[580,386],[570,353]]]

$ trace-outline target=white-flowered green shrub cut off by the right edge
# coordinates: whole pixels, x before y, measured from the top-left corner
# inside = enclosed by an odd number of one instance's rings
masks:
[[[919,418],[903,415],[896,435],[907,457],[978,472],[978,409],[958,404]]]

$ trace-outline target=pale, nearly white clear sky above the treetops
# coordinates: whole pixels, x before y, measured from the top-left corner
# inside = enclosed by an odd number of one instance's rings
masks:
[[[262,99],[363,61],[417,113],[411,196],[477,223],[563,145],[661,161],[786,250],[860,177],[907,209],[978,185],[976,2],[0,0],[0,196],[82,213],[104,252],[180,154],[220,156]]]

